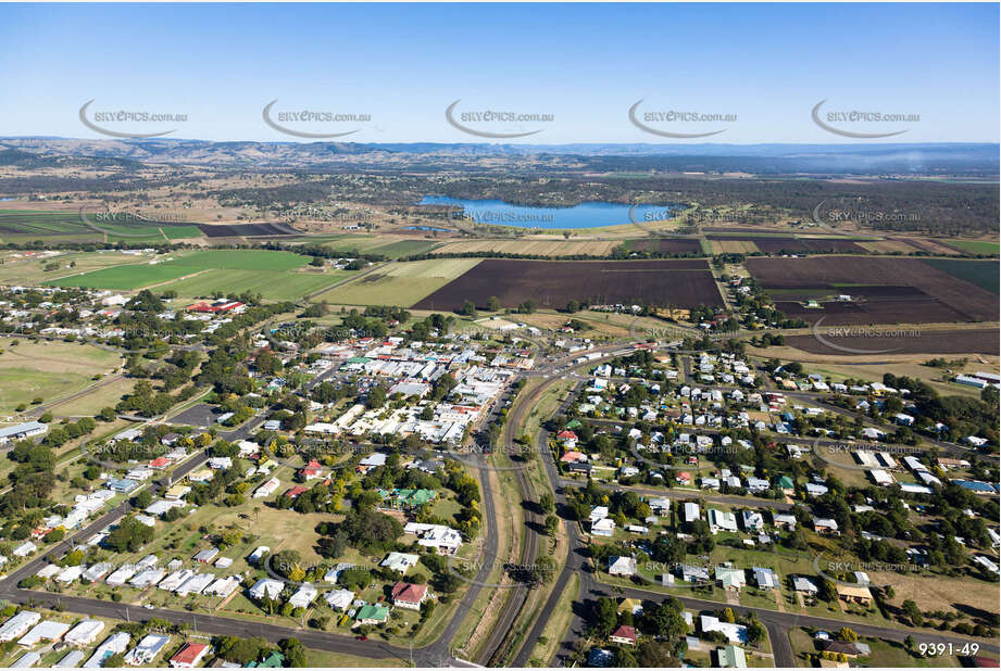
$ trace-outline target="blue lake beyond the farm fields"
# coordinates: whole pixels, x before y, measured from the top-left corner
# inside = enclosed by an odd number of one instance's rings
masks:
[[[680,203],[666,205],[623,205],[621,203],[580,203],[573,207],[533,207],[504,201],[466,200],[445,195],[425,195],[422,205],[452,205],[476,224],[516,228],[599,228],[659,221],[676,216],[685,208]],[[631,211],[631,212],[630,212]]]

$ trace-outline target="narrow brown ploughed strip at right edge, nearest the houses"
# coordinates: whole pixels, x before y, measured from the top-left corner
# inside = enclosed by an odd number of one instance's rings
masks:
[[[817,327],[823,338],[834,344],[861,352],[885,352],[887,354],[1001,354],[997,329],[963,329],[956,331],[925,331],[911,327],[894,330],[881,328],[879,336],[841,334],[828,330],[827,320]],[[813,336],[786,336],[786,345],[833,356],[855,356],[830,347]]]

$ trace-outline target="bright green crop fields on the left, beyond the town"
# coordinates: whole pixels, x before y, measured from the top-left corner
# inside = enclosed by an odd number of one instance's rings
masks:
[[[124,290],[155,284],[159,290],[175,290],[182,296],[251,291],[268,300],[281,301],[301,297],[351,276],[349,271],[303,270],[310,257],[291,252],[211,250],[160,258],[163,261],[155,264],[133,263],[48,283]]]

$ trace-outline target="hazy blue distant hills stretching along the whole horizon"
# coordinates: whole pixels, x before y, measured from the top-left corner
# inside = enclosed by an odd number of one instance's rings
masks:
[[[488,163],[520,169],[747,172],[764,175],[999,174],[991,143],[880,144],[488,144],[358,142],[212,142],[205,140],[85,140],[0,138],[0,163],[74,156],[218,168],[462,169]],[[38,164],[36,163],[35,166]]]

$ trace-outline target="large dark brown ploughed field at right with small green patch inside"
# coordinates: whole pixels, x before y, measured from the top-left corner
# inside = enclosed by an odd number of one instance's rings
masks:
[[[822,317],[825,326],[998,320],[996,294],[917,258],[753,257],[745,265],[765,290],[778,290],[778,309],[810,324]],[[808,308],[797,302],[806,293],[848,294],[852,301]]]

